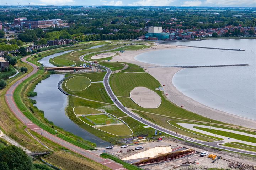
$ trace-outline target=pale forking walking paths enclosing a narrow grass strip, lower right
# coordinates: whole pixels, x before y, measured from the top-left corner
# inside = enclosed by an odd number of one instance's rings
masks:
[[[200,130],[200,129],[197,129],[197,128],[194,128],[194,124],[189,124],[189,123],[177,123],[178,125],[182,126],[183,128],[187,128],[187,129],[190,129],[190,130],[193,130],[193,131],[196,131],[196,132],[199,132],[201,134],[206,134],[206,135],[210,135],[210,136],[215,136],[215,131],[217,130],[221,130],[221,131],[226,131],[228,132],[228,129],[222,129],[222,128],[215,128],[215,127],[212,127],[213,129],[213,133],[210,133],[210,132],[207,132],[207,131],[203,131],[203,130]],[[210,126],[204,126],[204,125],[196,125],[198,127],[202,127],[202,128],[209,128],[210,129]],[[243,132],[239,132],[239,131],[234,131],[234,130],[230,130],[231,133],[236,133],[236,134],[246,134],[246,133],[243,133]],[[249,134],[246,134],[246,136],[249,136]],[[254,135],[256,136],[256,135]],[[224,141],[226,142],[239,142],[239,143],[244,143],[244,144],[247,144],[247,145],[252,145],[252,146],[256,146],[256,143],[252,143],[252,142],[247,142],[247,141],[242,141],[242,140],[238,140],[238,139],[234,139],[234,138],[231,138],[231,137],[226,137],[226,136],[222,136],[222,135],[216,135],[216,137],[218,138],[223,138]]]

